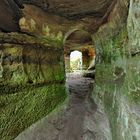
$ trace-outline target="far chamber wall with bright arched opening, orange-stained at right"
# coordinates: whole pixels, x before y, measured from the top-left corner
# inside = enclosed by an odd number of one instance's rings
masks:
[[[66,73],[76,70],[81,70],[82,72],[84,72],[94,66],[95,50],[93,46],[83,46],[80,49],[75,49],[68,53],[65,53],[64,56]]]

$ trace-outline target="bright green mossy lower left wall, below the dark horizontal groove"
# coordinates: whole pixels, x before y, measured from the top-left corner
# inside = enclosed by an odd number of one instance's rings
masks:
[[[45,117],[65,98],[65,87],[57,84],[0,96],[1,140],[12,140],[32,123]]]

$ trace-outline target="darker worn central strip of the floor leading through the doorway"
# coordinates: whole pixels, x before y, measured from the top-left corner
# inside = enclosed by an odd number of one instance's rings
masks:
[[[68,76],[67,83],[70,91],[69,110],[66,112],[66,123],[59,135],[60,140],[81,140],[84,134],[84,119],[86,103],[93,86],[92,80],[79,74]]]

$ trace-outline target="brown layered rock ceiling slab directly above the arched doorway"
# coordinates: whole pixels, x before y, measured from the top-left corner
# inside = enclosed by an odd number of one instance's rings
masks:
[[[24,0],[48,13],[78,21],[88,32],[96,32],[106,22],[117,0]],[[91,27],[92,26],[92,27]]]

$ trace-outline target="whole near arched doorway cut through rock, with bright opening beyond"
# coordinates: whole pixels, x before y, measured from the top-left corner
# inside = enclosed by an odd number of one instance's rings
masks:
[[[74,64],[76,65],[77,63],[77,66],[72,68],[71,53],[74,51],[81,53],[82,60],[79,60],[79,62],[77,60]],[[78,68],[77,70],[88,70],[88,68],[91,67],[91,62],[95,59],[95,49],[90,33],[78,29],[73,29],[66,33],[64,38],[64,56],[66,73],[73,72],[73,70],[76,70],[76,67]]]

